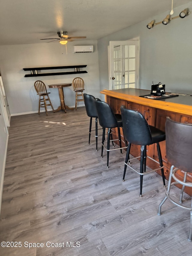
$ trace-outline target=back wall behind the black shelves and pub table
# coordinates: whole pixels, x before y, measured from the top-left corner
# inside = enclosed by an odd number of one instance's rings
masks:
[[[50,99],[55,109],[60,105],[58,89],[49,89],[49,84],[72,83],[75,77],[82,77],[85,82],[85,92],[96,97],[99,96],[97,41],[78,42],[67,43],[67,54],[65,46],[58,42],[0,46],[1,75],[11,115],[38,111],[38,96],[34,89],[36,80],[42,80],[46,84],[48,91],[51,92]],[[73,45],[94,45],[94,52],[73,53]],[[80,68],[80,70],[86,70],[88,73],[24,77],[25,74],[30,74],[30,71],[23,71],[23,68],[70,65],[87,65],[86,68]],[[69,70],[60,69],[50,72],[65,71]],[[69,107],[75,105],[75,93],[72,86],[64,88],[64,96],[66,105]],[[78,103],[79,106],[82,104],[83,102]]]

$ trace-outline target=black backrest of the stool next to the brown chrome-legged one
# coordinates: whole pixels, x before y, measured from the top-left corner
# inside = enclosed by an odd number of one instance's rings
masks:
[[[123,133],[129,143],[143,146],[153,144],[149,125],[141,113],[121,106],[121,116]]]

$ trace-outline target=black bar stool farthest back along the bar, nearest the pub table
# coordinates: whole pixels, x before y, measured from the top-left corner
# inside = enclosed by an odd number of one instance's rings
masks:
[[[84,93],[84,102],[85,102],[85,109],[87,112],[87,115],[90,117],[90,124],[89,124],[89,142],[90,145],[90,138],[91,135],[95,136],[96,139],[96,150],[98,145],[98,116],[97,116],[97,110],[95,107],[95,97],[89,94]],[[95,134],[91,133],[91,126],[92,126],[92,118],[95,118]]]

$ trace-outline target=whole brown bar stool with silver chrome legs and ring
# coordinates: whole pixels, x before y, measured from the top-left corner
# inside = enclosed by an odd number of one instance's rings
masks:
[[[166,133],[166,153],[167,160],[172,164],[169,175],[169,182],[165,197],[161,201],[158,209],[158,215],[161,215],[161,206],[167,198],[183,209],[190,211],[190,230],[188,241],[192,240],[192,202],[190,206],[182,205],[183,191],[185,186],[192,188],[191,182],[186,182],[187,173],[192,174],[192,124],[182,124],[171,120],[169,117],[165,123]],[[183,181],[178,179],[176,171],[182,170],[184,172]],[[173,182],[172,182],[173,181]],[[176,196],[170,196],[171,185],[181,184],[182,189],[180,197],[176,201]],[[175,215],[176,216],[176,215]]]

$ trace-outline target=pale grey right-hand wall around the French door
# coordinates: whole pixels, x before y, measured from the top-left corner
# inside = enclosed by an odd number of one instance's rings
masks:
[[[174,8],[173,17],[184,8],[192,11],[189,4]],[[101,90],[109,89],[107,46],[110,41],[128,40],[140,37],[140,88],[151,89],[154,83],[166,85],[166,91],[192,94],[192,14],[172,20],[166,26],[159,24],[147,29],[153,19],[162,21],[170,11],[118,31],[98,40],[99,74]],[[102,96],[101,96],[101,99]]]

